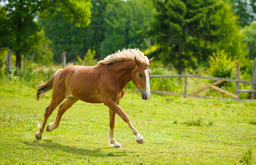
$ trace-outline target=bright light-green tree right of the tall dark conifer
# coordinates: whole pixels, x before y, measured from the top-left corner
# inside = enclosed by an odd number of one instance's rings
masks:
[[[238,17],[231,12],[231,6],[223,1],[217,1],[215,10],[216,14],[211,19],[214,20],[212,23],[218,25],[215,30],[218,38],[212,48],[215,52],[225,50],[228,56],[236,56],[239,62],[246,61],[247,44],[243,42],[245,35],[240,32],[241,26],[237,25]]]

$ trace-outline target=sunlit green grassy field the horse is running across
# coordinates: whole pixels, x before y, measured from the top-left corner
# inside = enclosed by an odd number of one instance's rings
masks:
[[[256,164],[256,102],[159,95],[143,101],[127,91],[120,107],[146,142],[137,144],[116,116],[122,149],[114,149],[108,144],[108,108],[81,101],[58,129],[36,140],[51,94],[36,102],[34,92],[0,87],[0,164]]]

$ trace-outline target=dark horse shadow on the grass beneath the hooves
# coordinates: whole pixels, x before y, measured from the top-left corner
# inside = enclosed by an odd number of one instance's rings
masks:
[[[129,155],[129,152],[122,151],[121,149],[116,149],[116,151],[111,150],[110,152],[101,151],[102,149],[111,149],[111,147],[98,148],[94,150],[89,149],[79,149],[73,146],[65,146],[58,144],[57,142],[52,142],[52,140],[42,140],[44,143],[34,140],[33,142],[22,141],[25,145],[33,147],[43,147],[49,150],[60,150],[67,153],[72,153],[74,157],[79,156],[90,156],[90,157],[122,157]],[[110,154],[109,154],[110,153]]]

